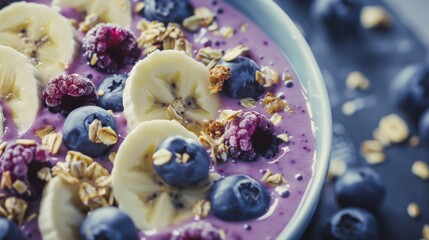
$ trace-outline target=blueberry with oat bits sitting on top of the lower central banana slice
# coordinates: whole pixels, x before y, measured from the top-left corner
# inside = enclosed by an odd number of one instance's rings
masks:
[[[168,162],[163,161],[165,157]],[[209,173],[210,157],[197,141],[173,136],[162,141],[154,153],[154,168],[170,186],[190,187]]]

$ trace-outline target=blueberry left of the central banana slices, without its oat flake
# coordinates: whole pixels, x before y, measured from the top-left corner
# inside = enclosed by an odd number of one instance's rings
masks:
[[[111,127],[118,132],[113,116],[97,106],[80,107],[73,110],[64,122],[64,143],[70,149],[79,151],[91,157],[105,155],[113,145],[106,145],[89,139],[89,126],[94,120],[99,120],[102,127]]]

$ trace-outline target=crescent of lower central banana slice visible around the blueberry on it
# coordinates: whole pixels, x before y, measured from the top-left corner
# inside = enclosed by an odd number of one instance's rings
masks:
[[[210,182],[179,190],[167,186],[152,166],[157,145],[169,136],[198,137],[176,121],[141,123],[125,138],[112,170],[113,195],[141,230],[177,224],[192,216],[192,207],[205,197]]]

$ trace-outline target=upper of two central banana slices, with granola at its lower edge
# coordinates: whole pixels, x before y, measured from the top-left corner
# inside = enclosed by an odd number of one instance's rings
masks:
[[[219,100],[209,91],[209,71],[175,50],[157,51],[131,70],[124,89],[129,129],[153,119],[174,119],[199,133],[203,120],[215,119]]]

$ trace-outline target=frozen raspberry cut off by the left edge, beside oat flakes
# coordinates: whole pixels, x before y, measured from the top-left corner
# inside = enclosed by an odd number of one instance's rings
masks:
[[[9,171],[12,178],[26,180],[29,165],[33,161],[43,163],[45,160],[45,151],[39,145],[14,143],[8,146],[0,157],[0,172]]]

